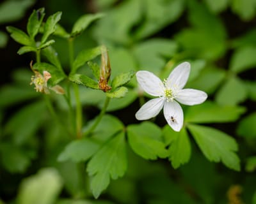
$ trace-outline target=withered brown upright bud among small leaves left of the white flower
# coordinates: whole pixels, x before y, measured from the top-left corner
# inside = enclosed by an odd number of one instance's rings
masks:
[[[111,75],[111,66],[109,62],[108,50],[106,47],[101,49],[101,66],[100,66],[100,78],[99,78],[99,88],[100,90],[106,92],[111,90],[108,85],[108,80]]]

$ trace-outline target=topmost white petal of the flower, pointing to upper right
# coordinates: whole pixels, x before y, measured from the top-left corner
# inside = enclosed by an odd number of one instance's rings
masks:
[[[188,81],[189,73],[189,62],[183,62],[179,64],[179,66],[174,68],[173,71],[170,73],[169,77],[167,78],[167,86],[177,90],[182,89]]]

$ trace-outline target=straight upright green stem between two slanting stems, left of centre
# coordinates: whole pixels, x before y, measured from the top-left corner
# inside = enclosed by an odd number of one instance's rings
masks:
[[[79,96],[79,89],[77,84],[73,84],[74,93],[76,98],[76,136],[77,138],[82,137],[82,124],[83,124],[83,116],[82,116],[82,105]]]

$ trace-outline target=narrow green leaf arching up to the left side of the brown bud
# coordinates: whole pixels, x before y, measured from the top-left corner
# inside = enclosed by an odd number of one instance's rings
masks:
[[[94,59],[100,54],[101,54],[101,46],[82,50],[81,52],[79,52],[79,54],[77,55],[76,59],[72,64],[71,73],[72,74],[76,73],[77,69],[83,66],[85,62],[88,62]]]

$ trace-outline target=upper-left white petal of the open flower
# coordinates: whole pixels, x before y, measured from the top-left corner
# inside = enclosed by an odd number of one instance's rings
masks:
[[[141,88],[151,96],[163,96],[163,82],[150,71],[137,71],[136,77]]]

